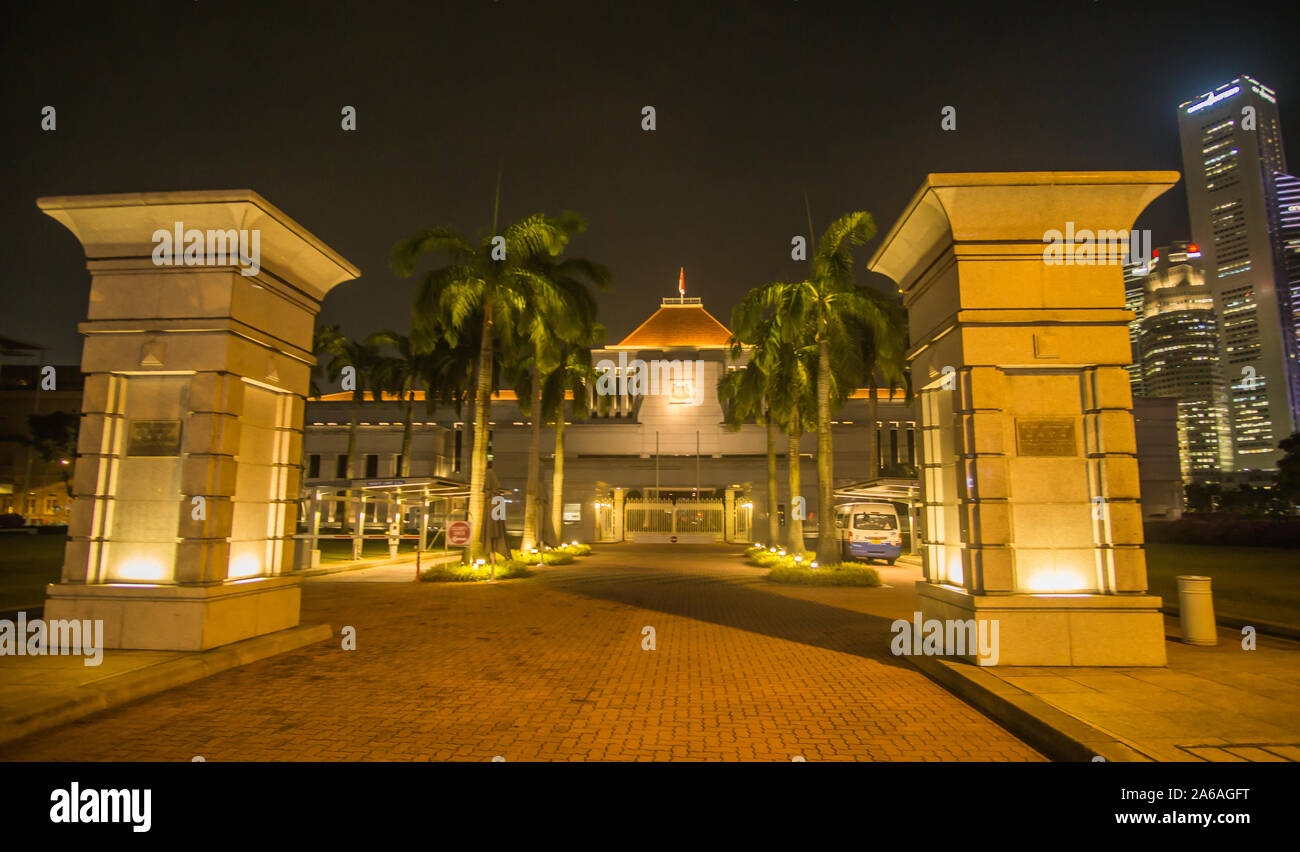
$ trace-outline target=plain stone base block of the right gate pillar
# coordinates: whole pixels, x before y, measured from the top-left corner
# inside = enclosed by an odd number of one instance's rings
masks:
[[[918,583],[922,618],[996,619],[998,666],[1164,666],[1154,594],[971,594]],[[978,665],[976,653],[959,656]]]

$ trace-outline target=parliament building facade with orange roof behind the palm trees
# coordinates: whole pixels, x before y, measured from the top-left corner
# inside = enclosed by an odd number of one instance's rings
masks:
[[[593,351],[608,380],[592,393],[586,419],[566,408],[564,492],[560,540],[753,540],[767,531],[767,428],[732,431],[718,399],[719,379],[744,363],[732,362],[731,332],[698,298],[666,298],[658,311],[618,343]],[[602,386],[603,384],[603,386]],[[304,485],[339,484],[347,464],[351,394],[307,403]],[[358,455],[364,480],[395,479],[400,471],[406,403],[367,399],[359,406]],[[472,411],[415,402],[411,476],[468,479],[473,446]],[[902,392],[880,392],[875,418],[870,392],[857,392],[832,421],[836,485],[871,477],[878,451],[883,476],[915,476],[915,414]],[[489,459],[511,497],[507,528],[523,526],[530,420],[511,392],[494,394]],[[800,479],[807,528],[816,518],[816,438],[800,442]],[[550,498],[554,429],[542,431],[542,481]],[[788,440],[777,437],[777,518],[784,527],[794,503],[786,476]],[[326,522],[338,520],[337,511]],[[369,519],[384,523],[381,515]]]

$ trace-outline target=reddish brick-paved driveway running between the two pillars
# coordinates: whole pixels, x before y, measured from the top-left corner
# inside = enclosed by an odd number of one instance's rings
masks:
[[[339,641],[0,745],[0,760],[1041,760],[736,548],[603,546],[497,585],[308,581]],[[642,649],[642,628],[655,650]]]

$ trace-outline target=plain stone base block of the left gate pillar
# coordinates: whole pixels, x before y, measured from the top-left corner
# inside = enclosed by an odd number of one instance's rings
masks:
[[[298,626],[300,580],[254,578],[217,585],[47,587],[46,620],[100,619],[104,646],[207,650]]]

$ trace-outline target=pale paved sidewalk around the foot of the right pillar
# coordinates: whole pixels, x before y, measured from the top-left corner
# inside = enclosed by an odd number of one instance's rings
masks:
[[[909,618],[911,566],[880,567],[892,585],[862,611]],[[979,667],[909,662],[1057,760],[1300,761],[1300,643],[1236,627],[1219,644],[1186,645],[1166,617],[1166,667]]]

